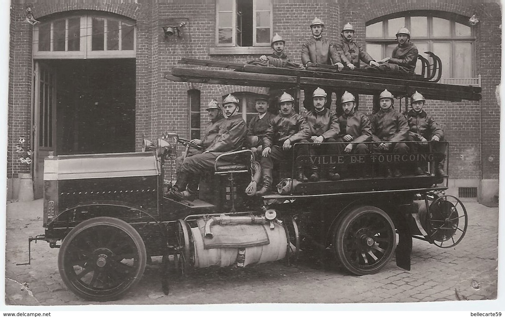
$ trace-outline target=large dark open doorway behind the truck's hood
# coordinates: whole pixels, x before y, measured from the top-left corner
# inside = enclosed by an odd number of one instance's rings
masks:
[[[135,151],[135,59],[38,60],[35,196],[55,155]]]

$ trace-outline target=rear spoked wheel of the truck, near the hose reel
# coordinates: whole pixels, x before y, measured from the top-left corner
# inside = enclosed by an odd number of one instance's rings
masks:
[[[334,242],[336,255],[348,271],[375,274],[393,255],[396,233],[384,210],[361,206],[343,216],[335,228]]]

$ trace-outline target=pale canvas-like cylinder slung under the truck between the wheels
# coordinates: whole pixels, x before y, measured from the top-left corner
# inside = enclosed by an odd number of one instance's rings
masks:
[[[275,224],[273,230],[270,229],[269,224],[242,224],[238,226],[242,226],[245,231],[251,226],[263,226],[269,240],[268,244],[245,247],[244,266],[250,263],[276,261],[286,256],[287,238],[282,225]],[[191,228],[195,268],[207,268],[211,266],[226,267],[236,262],[238,249],[243,249],[243,247],[205,249],[204,238],[200,230],[200,228]]]

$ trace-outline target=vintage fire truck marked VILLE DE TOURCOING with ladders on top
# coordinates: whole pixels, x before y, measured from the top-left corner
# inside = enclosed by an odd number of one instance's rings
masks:
[[[292,70],[183,59],[181,64],[213,69],[174,68],[165,77],[294,89],[297,102],[300,88],[314,86],[362,94],[387,88],[405,98],[406,107],[407,96],[415,90],[429,99],[480,99],[478,87],[436,83],[439,60],[432,57],[432,62],[422,61],[422,74],[413,76],[339,72],[318,65]],[[173,173],[173,160],[181,147],[187,153],[192,146],[167,131],[156,142],[144,140],[142,152],[46,158],[45,233],[30,237],[29,242],[44,240],[60,248],[58,268],[69,290],[86,300],[118,299],[139,281],[152,256],[162,256],[160,291],[165,293],[174,274],[280,259],[291,264],[300,250],[308,249],[321,257],[330,252],[357,275],[380,271],[393,254],[400,268],[410,270],[413,238],[453,247],[467,229],[465,206],[457,197],[444,195],[447,178],[434,173],[443,155],[431,146],[426,152],[398,157],[373,153],[293,156],[276,169],[277,192],[264,196],[246,193],[257,164],[255,153],[243,148],[216,158],[214,171],[201,178],[198,199],[170,199],[166,193],[172,184],[166,176]],[[221,164],[226,156],[234,157],[232,164]],[[445,157],[449,172],[448,150]],[[309,161],[322,168],[325,162],[338,162],[368,168],[370,173],[366,178],[296,181],[293,163]],[[407,168],[418,164],[425,174],[385,178],[377,173],[385,162]]]

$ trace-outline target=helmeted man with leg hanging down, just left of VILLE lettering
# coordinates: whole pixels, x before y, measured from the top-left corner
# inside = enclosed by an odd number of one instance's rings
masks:
[[[293,144],[310,137],[310,128],[304,117],[293,110],[293,97],[284,92],[280,98],[280,112],[272,120],[263,138],[263,152],[261,157],[261,169],[263,175],[263,187],[256,192],[257,195],[265,195],[270,192],[272,186],[273,160],[291,160]],[[297,149],[298,155],[308,155],[304,148]],[[302,174],[302,167],[297,166],[297,174]],[[298,180],[302,180],[298,177]]]

